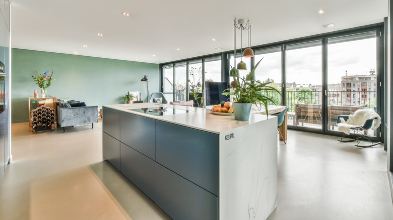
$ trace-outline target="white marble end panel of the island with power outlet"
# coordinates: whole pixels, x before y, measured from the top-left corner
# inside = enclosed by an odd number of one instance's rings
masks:
[[[220,135],[220,219],[266,219],[277,207],[277,137],[272,116]]]

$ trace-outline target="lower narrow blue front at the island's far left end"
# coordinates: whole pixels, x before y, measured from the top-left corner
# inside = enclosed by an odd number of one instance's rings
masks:
[[[120,170],[120,141],[102,133],[102,156]]]

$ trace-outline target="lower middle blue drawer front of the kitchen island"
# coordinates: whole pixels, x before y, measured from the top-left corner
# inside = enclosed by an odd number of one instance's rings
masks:
[[[156,162],[123,143],[120,152],[120,172],[154,201]]]

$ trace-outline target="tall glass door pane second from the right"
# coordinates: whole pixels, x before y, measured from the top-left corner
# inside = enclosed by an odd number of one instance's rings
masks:
[[[322,41],[286,45],[288,126],[322,129]]]

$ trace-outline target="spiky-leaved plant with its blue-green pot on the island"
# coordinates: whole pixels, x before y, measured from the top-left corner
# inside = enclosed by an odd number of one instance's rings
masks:
[[[271,101],[274,103],[274,101],[272,97],[268,96],[268,92],[279,91],[274,87],[268,86],[271,82],[261,83],[260,81],[255,81],[254,71],[262,59],[259,60],[246,77],[239,77],[239,72],[231,66],[233,74],[231,88],[225,89],[222,94],[232,95],[235,99],[235,102],[233,102],[235,120],[247,121],[250,116],[252,104],[255,104],[259,110],[261,109],[261,105],[265,105],[266,115],[269,116],[268,102]]]

